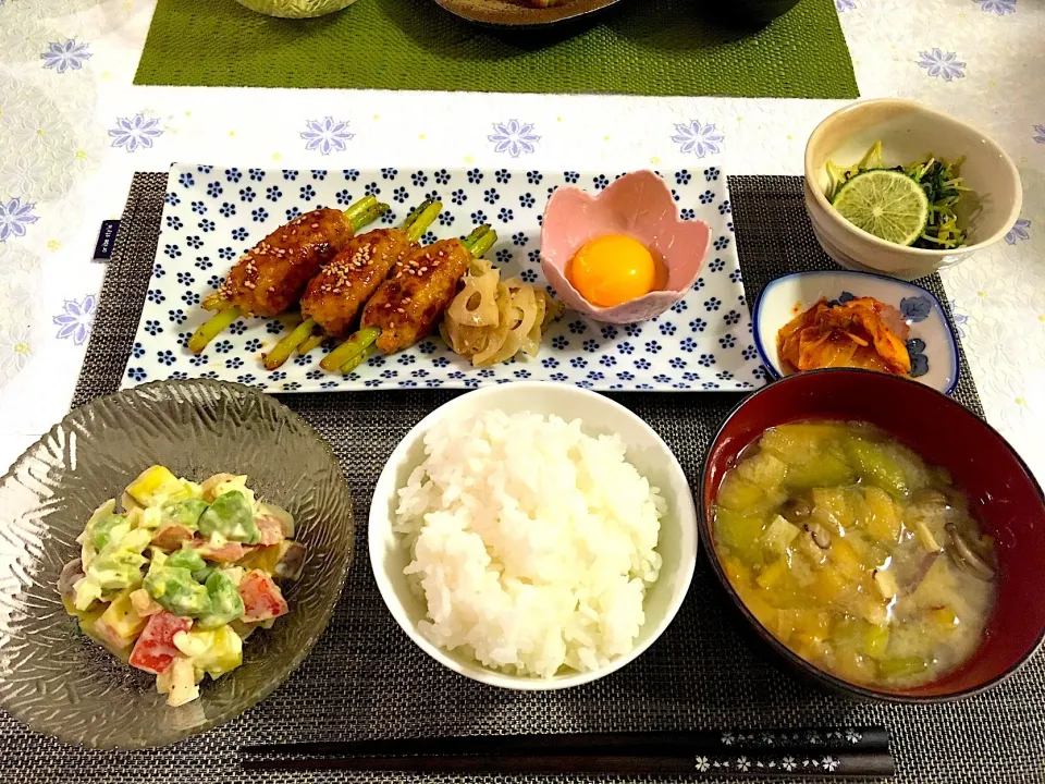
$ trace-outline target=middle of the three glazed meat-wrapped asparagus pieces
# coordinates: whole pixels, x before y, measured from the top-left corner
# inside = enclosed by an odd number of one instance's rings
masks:
[[[392,266],[417,248],[418,240],[442,208],[442,204],[429,199],[410,212],[401,228],[374,229],[348,241],[309,281],[302,297],[305,320],[265,357],[265,367],[275,370],[295,348],[307,354],[324,335],[345,338],[355,326],[360,308],[389,275]],[[319,341],[312,335],[316,327],[322,330]]]

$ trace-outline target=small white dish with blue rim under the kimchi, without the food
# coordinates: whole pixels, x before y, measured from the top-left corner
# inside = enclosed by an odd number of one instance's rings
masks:
[[[911,378],[950,394],[958,384],[958,339],[931,292],[913,283],[868,272],[796,272],[771,281],[754,305],[754,345],[770,372],[787,375],[776,353],[776,335],[821,297],[846,302],[870,296],[892,305],[911,329],[907,350]]]

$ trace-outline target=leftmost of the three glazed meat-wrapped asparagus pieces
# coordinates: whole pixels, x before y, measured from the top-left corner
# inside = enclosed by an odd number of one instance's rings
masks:
[[[388,209],[367,196],[344,212],[321,208],[276,229],[244,254],[221,287],[204,299],[205,309],[219,313],[193,333],[189,351],[202,353],[239,316],[271,318],[293,307],[322,266]]]

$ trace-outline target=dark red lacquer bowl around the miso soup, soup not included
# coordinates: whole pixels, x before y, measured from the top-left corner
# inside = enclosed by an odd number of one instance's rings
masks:
[[[946,467],[964,491],[982,530],[995,539],[997,601],[980,648],[961,667],[922,686],[857,686],[792,653],[748,611],[729,584],[712,536],[723,475],[770,427],[803,419],[871,422]],[[1013,449],[989,425],[924,384],[868,370],[814,370],[755,392],[726,418],[704,463],[700,538],[712,567],[759,637],[802,673],[851,697],[943,702],[979,694],[1015,673],[1045,637],[1045,498]]]

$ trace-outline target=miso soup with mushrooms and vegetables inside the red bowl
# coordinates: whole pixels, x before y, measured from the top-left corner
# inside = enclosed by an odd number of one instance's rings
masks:
[[[947,470],[863,422],[766,430],[723,478],[714,538],[755,617],[855,684],[939,678],[994,605],[994,542]]]

